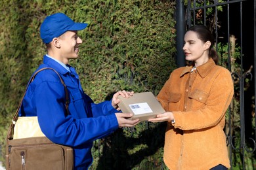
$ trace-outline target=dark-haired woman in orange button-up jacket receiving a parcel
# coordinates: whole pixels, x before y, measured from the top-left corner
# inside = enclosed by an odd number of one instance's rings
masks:
[[[184,36],[190,65],[175,69],[157,98],[167,111],[150,122],[167,121],[163,160],[169,169],[230,167],[223,128],[234,94],[230,71],[218,66],[214,39],[203,25]]]

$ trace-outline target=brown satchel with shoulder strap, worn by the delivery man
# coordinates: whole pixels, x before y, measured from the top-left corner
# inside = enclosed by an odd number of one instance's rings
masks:
[[[44,69],[52,69],[53,68],[46,67],[43,69],[39,69],[33,76],[30,78],[29,84],[35,78],[35,75]],[[62,82],[65,93],[66,93],[66,110],[68,112],[68,105],[69,105],[69,97],[68,97],[68,89],[64,84],[61,76],[55,71]],[[28,89],[28,86],[26,90]],[[22,97],[24,96],[26,91]],[[35,136],[35,137],[25,137],[22,139],[13,139],[14,134],[14,127],[18,120],[18,111],[22,105],[22,100],[20,101],[20,105],[12,118],[11,126],[9,127],[9,131],[7,132],[7,143],[6,143],[6,162],[5,167],[7,170],[20,170],[20,169],[42,169],[42,170],[70,170],[74,169],[74,154],[73,149],[70,146],[64,146],[61,144],[56,144],[51,142],[45,136]],[[39,125],[38,125],[39,126]],[[29,127],[28,127],[29,128]],[[39,128],[40,129],[40,128]],[[41,131],[41,129],[40,129]],[[19,133],[19,132],[17,132]],[[24,131],[26,134],[26,132]],[[23,134],[24,135],[24,134]],[[31,136],[29,134],[29,136]],[[32,135],[33,136],[33,135]]]

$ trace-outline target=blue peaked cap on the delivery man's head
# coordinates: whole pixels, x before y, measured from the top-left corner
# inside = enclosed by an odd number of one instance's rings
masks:
[[[40,35],[43,42],[48,44],[54,37],[60,37],[66,31],[79,31],[85,27],[86,23],[77,23],[63,13],[56,13],[45,18],[40,27]]]

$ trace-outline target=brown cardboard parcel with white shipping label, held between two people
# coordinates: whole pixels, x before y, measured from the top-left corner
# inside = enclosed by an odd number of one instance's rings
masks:
[[[120,99],[118,107],[122,112],[133,113],[129,118],[132,120],[139,118],[140,121],[144,121],[165,112],[152,92],[134,93],[129,98],[119,95],[118,99]]]

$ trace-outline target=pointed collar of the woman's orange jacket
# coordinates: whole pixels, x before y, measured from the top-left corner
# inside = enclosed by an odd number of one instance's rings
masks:
[[[215,62],[213,61],[212,58],[209,58],[209,60],[204,63],[203,65],[200,65],[198,67],[196,67],[196,70],[198,71],[199,75],[204,78],[205,76],[207,76],[210,71],[213,69],[213,67],[215,67]],[[190,73],[191,69],[193,66],[186,66],[184,67],[183,71],[181,72],[180,76],[185,75],[186,73]]]

